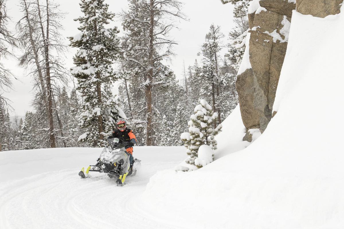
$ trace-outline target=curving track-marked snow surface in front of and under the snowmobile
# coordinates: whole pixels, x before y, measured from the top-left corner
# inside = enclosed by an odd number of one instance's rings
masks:
[[[0,228],[170,228],[137,205],[150,176],[168,164],[147,164],[121,187],[104,173],[80,179],[75,169],[0,183]]]

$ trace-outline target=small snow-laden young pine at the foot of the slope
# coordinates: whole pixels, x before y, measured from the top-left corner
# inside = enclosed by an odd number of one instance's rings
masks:
[[[198,155],[198,149],[201,145],[209,145],[212,150],[217,149],[217,141],[215,136],[221,131],[222,125],[219,124],[215,129],[214,123],[217,120],[217,113],[213,108],[204,100],[194,109],[194,114],[191,115],[190,121],[187,123],[189,132],[181,134],[181,139],[186,147],[186,154],[189,158],[186,163],[202,167],[200,163],[195,163]]]

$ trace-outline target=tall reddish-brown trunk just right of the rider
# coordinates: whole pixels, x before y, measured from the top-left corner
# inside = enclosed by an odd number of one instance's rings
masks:
[[[148,81],[146,86],[146,99],[147,99],[147,138],[146,144],[153,145],[153,131],[152,131],[152,81],[153,81],[153,39],[154,39],[154,0],[150,0],[150,28],[149,28],[149,69],[148,69]]]

